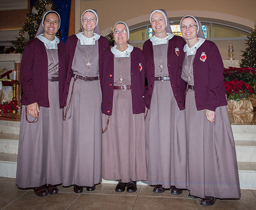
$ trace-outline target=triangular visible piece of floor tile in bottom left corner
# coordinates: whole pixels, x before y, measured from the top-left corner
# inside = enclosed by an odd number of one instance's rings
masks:
[[[0,209],[24,195],[27,191],[18,190],[0,190]]]

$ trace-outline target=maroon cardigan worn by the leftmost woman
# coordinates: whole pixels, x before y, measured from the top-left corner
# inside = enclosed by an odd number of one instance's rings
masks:
[[[65,82],[65,43],[58,43],[59,103]],[[20,84],[23,95],[20,103],[50,107],[48,98],[48,57],[44,42],[38,38],[29,40],[23,52],[20,66]],[[61,108],[61,106],[60,106]]]

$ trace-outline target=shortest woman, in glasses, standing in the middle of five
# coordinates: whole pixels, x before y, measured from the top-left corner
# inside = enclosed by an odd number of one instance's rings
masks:
[[[137,191],[136,181],[146,180],[145,61],[142,51],[127,44],[129,28],[114,27],[116,45],[103,56],[102,176],[118,180],[116,192]]]

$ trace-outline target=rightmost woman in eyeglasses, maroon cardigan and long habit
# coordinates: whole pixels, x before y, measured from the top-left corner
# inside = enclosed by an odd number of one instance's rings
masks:
[[[240,198],[238,165],[228,118],[223,62],[214,42],[205,40],[201,22],[185,16],[181,96],[186,98],[187,190],[213,205],[216,198]],[[184,85],[181,85],[184,87]]]

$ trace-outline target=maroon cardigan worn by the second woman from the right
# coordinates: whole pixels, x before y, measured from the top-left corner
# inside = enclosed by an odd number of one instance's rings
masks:
[[[185,101],[179,95],[181,72],[182,72],[182,61],[184,60],[183,47],[185,41],[180,36],[174,36],[169,40],[168,50],[167,50],[167,66],[170,77],[170,85],[172,86],[174,97],[180,108],[183,110],[185,108]],[[179,56],[176,54],[175,49],[179,49]],[[151,97],[154,89],[155,82],[155,63],[154,63],[154,53],[153,44],[150,39],[146,40],[143,44],[143,53],[146,60],[146,77],[147,77],[147,87],[145,92],[145,102],[146,107],[150,109]],[[167,76],[167,75],[166,75]],[[183,84],[184,85],[184,84]]]

